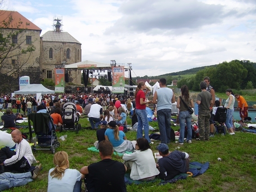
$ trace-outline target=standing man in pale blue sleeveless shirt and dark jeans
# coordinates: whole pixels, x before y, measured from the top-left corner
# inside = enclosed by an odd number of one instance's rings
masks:
[[[153,103],[157,104],[157,122],[161,143],[169,144],[171,142],[172,103],[175,102],[175,96],[172,89],[166,87],[166,79],[161,78],[159,82],[161,88],[154,93]]]

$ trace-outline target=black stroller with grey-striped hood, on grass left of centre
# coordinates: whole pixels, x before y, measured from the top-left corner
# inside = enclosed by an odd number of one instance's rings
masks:
[[[81,124],[78,123],[79,115],[81,114],[76,111],[74,103],[65,103],[63,105],[62,116],[62,122],[64,125],[60,131],[76,131],[76,133],[78,133],[79,130],[81,130]]]

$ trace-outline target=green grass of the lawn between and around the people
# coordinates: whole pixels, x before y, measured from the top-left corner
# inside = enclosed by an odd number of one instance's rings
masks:
[[[88,127],[87,118],[80,118],[82,127]],[[128,124],[131,124],[128,118]],[[157,122],[150,122],[152,127],[158,128]],[[178,130],[179,127],[173,127]],[[28,132],[23,129],[23,132]],[[100,161],[98,153],[90,152],[88,147],[93,146],[96,140],[96,132],[90,130],[57,132],[57,137],[67,135],[65,141],[58,140],[61,144],[57,151],[64,150],[69,154],[70,167],[79,170],[82,166]],[[136,140],[136,132],[129,131],[129,140]],[[128,192],[243,192],[255,191],[256,188],[256,135],[237,132],[235,135],[216,135],[208,142],[192,141],[192,144],[179,145],[179,150],[190,154],[190,161],[201,163],[210,162],[209,169],[195,178],[180,180],[177,183],[159,186],[159,181],[150,184],[128,185]],[[155,142],[151,149],[157,152]],[[169,144],[171,151],[177,144]],[[38,179],[26,186],[12,188],[9,192],[46,192],[48,183],[48,171],[53,165],[53,154],[50,151],[36,151],[35,157],[43,165]],[[220,157],[222,161],[217,161]],[[113,156],[113,159],[122,161],[121,157]]]

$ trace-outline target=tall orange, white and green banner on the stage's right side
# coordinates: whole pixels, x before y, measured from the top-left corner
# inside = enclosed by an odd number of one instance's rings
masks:
[[[124,66],[112,67],[112,93],[124,93]]]

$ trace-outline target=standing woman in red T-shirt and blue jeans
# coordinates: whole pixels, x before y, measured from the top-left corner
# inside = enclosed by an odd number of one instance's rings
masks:
[[[146,89],[144,93],[143,90]],[[151,103],[152,101],[145,102],[146,94],[149,92],[149,89],[146,88],[146,85],[143,81],[138,83],[135,91],[135,101],[136,101],[136,110],[135,113],[138,118],[138,128],[137,128],[137,139],[143,137],[142,128],[144,127],[145,139],[151,143],[149,138],[149,122],[146,112],[146,104]]]

